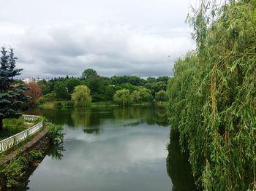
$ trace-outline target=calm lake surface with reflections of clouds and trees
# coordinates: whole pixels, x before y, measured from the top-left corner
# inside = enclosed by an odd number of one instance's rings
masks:
[[[51,149],[19,190],[195,190],[162,107],[36,113],[63,125],[64,150]]]

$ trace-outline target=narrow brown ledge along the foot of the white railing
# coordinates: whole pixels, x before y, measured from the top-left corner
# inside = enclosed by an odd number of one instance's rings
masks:
[[[26,151],[27,149],[34,146],[34,144],[37,143],[40,139],[42,139],[44,136],[46,136],[46,133],[48,131],[48,128],[44,128],[42,131],[37,133],[30,141],[28,141],[26,144],[18,147],[18,149],[13,150],[7,155],[4,155],[0,158],[0,166],[4,163],[7,163],[9,160],[11,160],[13,157],[16,157],[18,154]]]

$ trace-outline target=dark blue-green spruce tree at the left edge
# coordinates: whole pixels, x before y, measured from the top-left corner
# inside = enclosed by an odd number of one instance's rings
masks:
[[[20,75],[22,69],[15,69],[17,58],[14,56],[13,50],[7,52],[4,47],[1,48],[0,58],[0,131],[3,128],[4,118],[20,117],[21,104],[28,97],[23,94],[26,90],[24,85],[16,83],[13,79]]]

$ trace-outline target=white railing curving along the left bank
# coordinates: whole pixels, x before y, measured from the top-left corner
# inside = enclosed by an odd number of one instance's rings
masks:
[[[33,121],[33,120],[36,120],[39,116],[24,114],[23,117],[24,117],[24,120]],[[10,149],[16,144],[19,144],[21,141],[24,141],[29,136],[33,135],[34,133],[37,133],[37,131],[39,131],[41,128],[42,128],[42,121],[37,123],[37,125],[34,125],[31,128],[23,130],[20,133],[17,133],[13,136],[8,137],[7,139],[1,140],[0,153],[6,151],[7,149]]]

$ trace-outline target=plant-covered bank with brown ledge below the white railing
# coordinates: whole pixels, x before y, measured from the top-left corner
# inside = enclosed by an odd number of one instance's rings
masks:
[[[30,166],[41,163],[45,150],[50,146],[47,133],[46,127],[18,149],[1,156],[0,190],[18,184]]]

